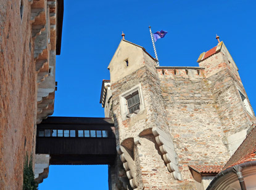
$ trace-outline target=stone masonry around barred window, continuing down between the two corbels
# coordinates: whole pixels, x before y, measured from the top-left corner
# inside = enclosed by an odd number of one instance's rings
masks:
[[[171,173],[168,172],[151,132],[153,127],[159,127],[168,132],[167,115],[155,63],[152,61],[152,65],[150,62],[147,62],[147,64],[147,66],[151,66],[151,69],[144,66],[112,84],[117,145],[122,144],[128,138],[141,137],[141,144],[133,152],[137,171],[136,179],[143,181],[143,183],[138,184],[138,189],[154,189],[155,184],[157,184],[158,189],[170,189],[173,183],[176,183],[176,180],[173,180]],[[133,115],[123,121],[119,95],[137,84],[141,84],[142,87],[145,109],[142,113]],[[148,140],[149,137],[151,140]],[[129,147],[130,145],[122,144],[122,146]],[[151,165],[148,165],[149,163]],[[172,183],[172,181],[174,182]]]

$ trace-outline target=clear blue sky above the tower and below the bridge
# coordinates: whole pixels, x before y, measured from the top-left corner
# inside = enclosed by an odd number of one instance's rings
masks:
[[[225,42],[256,111],[255,1],[64,0],[54,116],[104,117],[102,79],[122,39],[154,55],[148,26],[168,34],[156,43],[160,66],[198,66],[200,53]],[[108,189],[107,166],[50,166],[39,189]]]

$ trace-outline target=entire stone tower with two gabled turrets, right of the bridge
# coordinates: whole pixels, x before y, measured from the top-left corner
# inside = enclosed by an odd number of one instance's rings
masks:
[[[116,164],[110,189],[205,189],[246,137],[255,116],[223,42],[199,67],[157,66],[125,39],[102,83],[105,117],[113,117]],[[202,173],[191,168],[204,167]],[[208,173],[208,174],[207,174]]]

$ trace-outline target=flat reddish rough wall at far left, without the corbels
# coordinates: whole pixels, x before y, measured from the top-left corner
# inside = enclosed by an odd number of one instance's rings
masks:
[[[0,48],[0,189],[22,189],[23,162],[33,150],[36,127],[29,1],[23,1],[22,19],[20,1],[0,1]]]

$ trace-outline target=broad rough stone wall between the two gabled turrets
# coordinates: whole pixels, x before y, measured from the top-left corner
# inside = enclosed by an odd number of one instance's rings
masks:
[[[175,71],[176,70],[176,74]],[[169,130],[176,145],[181,186],[194,188],[188,165],[221,165],[228,160],[216,104],[196,69],[157,69],[168,113]],[[176,186],[178,188],[178,186]]]

